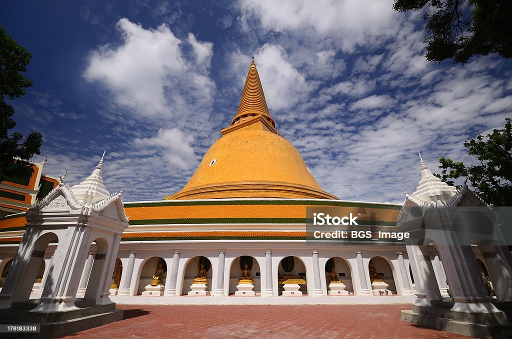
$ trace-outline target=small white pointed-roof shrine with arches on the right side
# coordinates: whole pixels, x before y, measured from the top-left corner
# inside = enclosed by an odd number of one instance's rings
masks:
[[[497,213],[465,183],[457,189],[435,177],[422,159],[421,169],[419,185],[413,194],[406,193],[398,216],[397,226],[411,234],[406,247],[417,296],[413,310],[402,311],[402,320],[469,336],[508,336],[512,281],[506,277],[512,277],[512,258],[500,245]],[[475,246],[483,252],[494,286],[480,272]],[[446,274],[444,286],[436,277],[439,260]],[[447,298],[441,294],[444,290]]]

